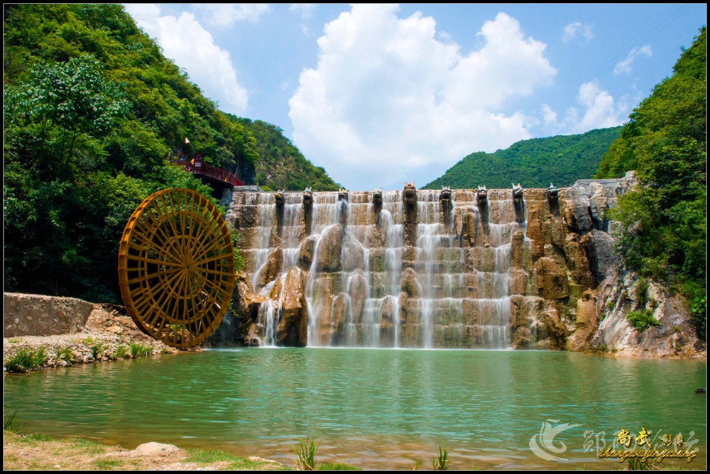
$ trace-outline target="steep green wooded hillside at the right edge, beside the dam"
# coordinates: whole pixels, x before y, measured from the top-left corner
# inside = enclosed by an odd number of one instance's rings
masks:
[[[621,197],[613,217],[623,224],[624,263],[666,280],[692,301],[704,335],[707,246],[706,28],[683,50],[673,75],[657,84],[629,116],[596,177],[635,170],[640,186]]]

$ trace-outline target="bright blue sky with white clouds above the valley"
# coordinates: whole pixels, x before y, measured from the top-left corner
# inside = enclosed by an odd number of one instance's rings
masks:
[[[422,187],[475,151],[621,125],[707,14],[706,4],[126,11],[219,109],[283,128],[353,191]]]

